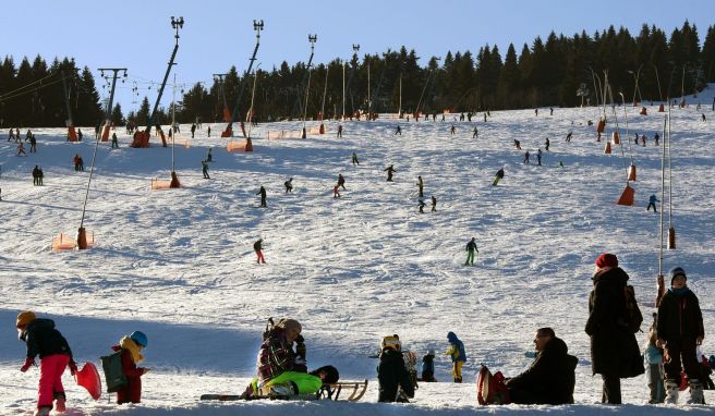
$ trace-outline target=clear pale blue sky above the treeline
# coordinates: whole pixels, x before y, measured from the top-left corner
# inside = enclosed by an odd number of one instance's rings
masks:
[[[246,69],[255,45],[253,20],[265,22],[257,56],[262,69],[283,60],[306,61],[308,34],[318,36],[318,63],[349,58],[352,45],[359,44],[361,56],[404,45],[424,58],[424,64],[447,50],[476,53],[485,44],[496,44],[504,56],[509,42],[519,51],[524,42],[546,38],[552,30],[572,36],[585,29],[592,35],[611,24],[633,35],[643,23],[655,24],[669,35],[687,19],[702,39],[715,24],[715,1],[2,0],[0,57],[13,56],[19,63],[24,56],[68,56],[93,71],[128,68],[128,81],[118,90],[128,112],[138,107],[132,103],[134,82],[142,97],[156,99],[156,86],[147,87],[161,81],[173,48],[171,15],[186,22],[180,33],[177,82],[192,84],[210,83],[213,73],[231,65]],[[162,102],[170,96],[169,88]]]

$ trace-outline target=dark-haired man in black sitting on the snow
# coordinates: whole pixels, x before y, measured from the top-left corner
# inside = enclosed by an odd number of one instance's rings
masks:
[[[506,381],[511,403],[573,403],[579,359],[568,354],[566,342],[552,328],[536,330],[534,350],[536,357],[526,371]]]

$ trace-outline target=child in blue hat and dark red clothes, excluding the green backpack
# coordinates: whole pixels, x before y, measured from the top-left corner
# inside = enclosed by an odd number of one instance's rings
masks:
[[[144,360],[142,350],[147,345],[146,334],[134,331],[130,335],[123,337],[119,341],[119,345],[111,347],[114,352],[122,352],[122,371],[126,377],[126,384],[117,391],[117,404],[142,402],[142,376],[149,369],[136,365]]]

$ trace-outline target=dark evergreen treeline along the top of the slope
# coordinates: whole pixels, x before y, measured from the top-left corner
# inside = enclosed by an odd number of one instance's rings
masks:
[[[295,113],[302,105],[295,106],[295,102],[300,99],[304,103],[307,94],[310,118],[317,117],[323,107],[327,117],[341,114],[343,66],[348,114],[368,109],[397,112],[400,103],[402,111],[428,113],[573,107],[581,105],[578,90],[582,95],[587,93],[583,96],[584,103],[590,100],[594,105],[597,77],[603,81],[604,70],[608,71],[611,90],[622,91],[627,101],[633,98],[659,101],[679,97],[681,91],[696,93],[705,83],[715,82],[715,26],[707,28],[702,49],[698,28],[686,21],[669,37],[662,29],[645,24],[634,37],[626,28],[610,26],[593,36],[582,32],[566,37],[552,32],[545,40],[536,37],[532,45],[524,44],[520,50],[509,45],[504,57],[497,46],[485,45],[475,56],[470,51],[448,51],[444,60],[432,57],[424,68],[419,65],[419,60],[414,50],[408,51],[404,47],[399,51],[365,54],[362,61],[353,54],[344,65],[336,59],[311,69],[307,93],[302,85],[308,71],[306,64],[298,62],[290,66],[282,62],[271,71],[257,72],[254,113],[258,120],[302,118],[303,114]],[[37,57],[32,63],[25,58],[15,68],[13,59],[5,57],[0,65],[2,126],[64,125],[66,109],[61,72],[69,76],[74,124],[95,125],[102,120],[99,94],[86,66],[78,71],[74,61],[65,58],[56,59],[48,68]],[[243,76],[251,83],[246,88],[251,93],[254,74],[239,74],[235,68],[228,71],[222,86],[217,81],[208,89],[195,84],[178,103],[177,120],[182,123],[196,118],[221,121],[223,94],[231,111]],[[27,85],[31,86],[25,87]],[[25,89],[13,94],[23,87]],[[239,106],[241,120],[245,119],[250,106],[251,94],[244,94]],[[126,119],[145,125],[149,111],[145,97],[141,108],[129,113]],[[158,122],[166,123],[167,117],[163,110],[159,111]],[[111,118],[117,124],[124,122],[119,105],[112,109]]]

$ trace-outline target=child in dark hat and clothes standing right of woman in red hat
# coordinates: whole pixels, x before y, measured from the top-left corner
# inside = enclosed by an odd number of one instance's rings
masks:
[[[661,298],[656,331],[656,345],[664,348],[665,403],[678,403],[680,371],[684,368],[690,387],[688,404],[702,404],[703,383],[698,345],[705,338],[703,314],[698,296],[687,286],[688,277],[682,267],[670,270],[670,289]]]

